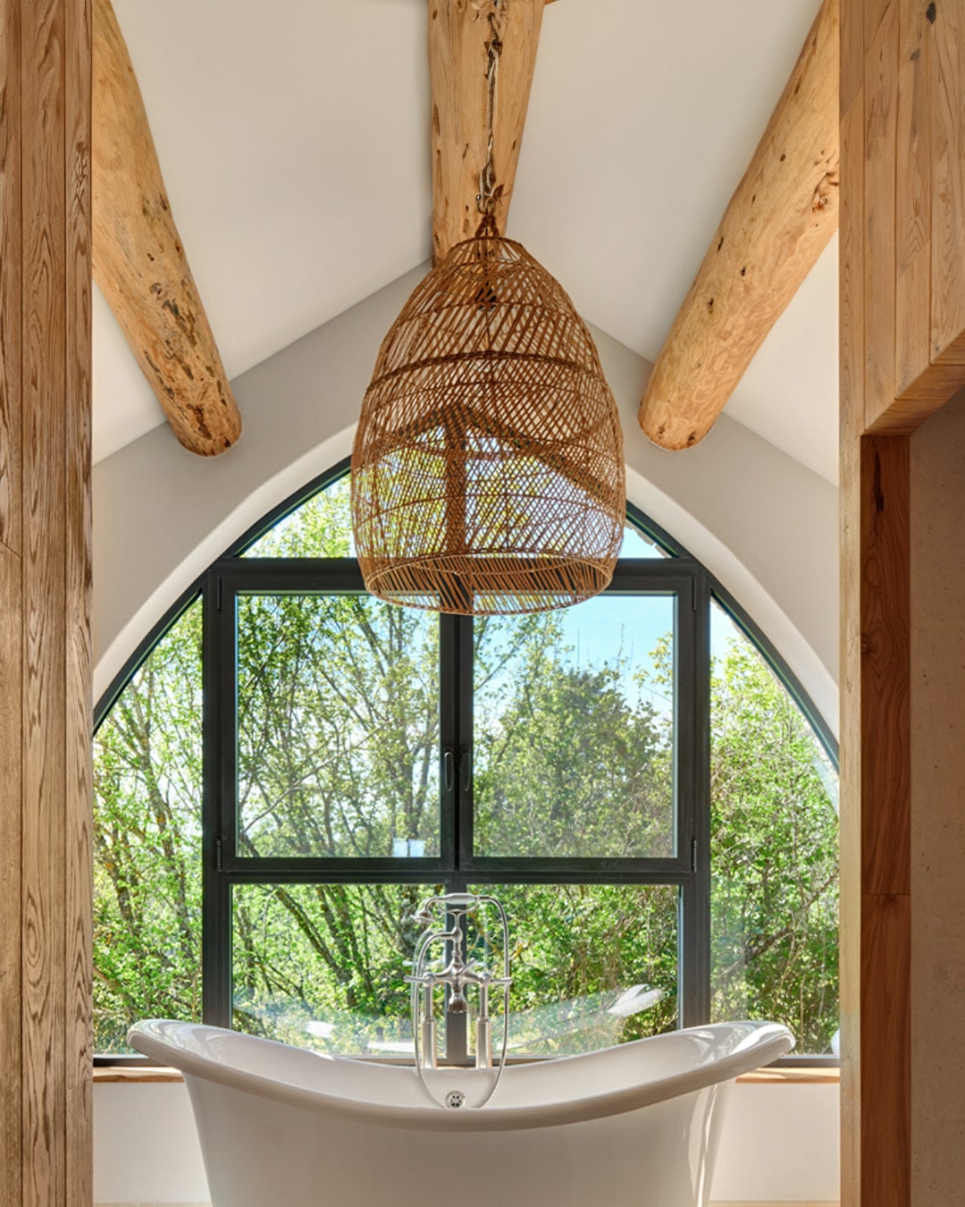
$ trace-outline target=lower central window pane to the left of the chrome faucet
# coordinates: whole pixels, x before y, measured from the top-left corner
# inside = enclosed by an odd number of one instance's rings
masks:
[[[425,885],[235,885],[233,1026],[300,1048],[413,1051],[409,986]]]

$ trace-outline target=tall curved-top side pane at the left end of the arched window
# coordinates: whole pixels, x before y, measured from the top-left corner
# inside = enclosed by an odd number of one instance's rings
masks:
[[[201,605],[94,736],[94,1050],[138,1019],[201,1016]]]

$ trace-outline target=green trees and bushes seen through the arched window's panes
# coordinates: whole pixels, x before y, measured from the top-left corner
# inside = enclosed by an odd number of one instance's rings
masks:
[[[250,550],[349,555],[335,484]],[[247,595],[238,608],[242,853],[439,850],[438,622],[368,596]],[[641,665],[614,639],[581,661],[566,618],[475,628],[481,855],[672,853],[673,647]],[[138,1018],[200,1016],[200,604],[172,626],[95,739],[95,1042]],[[657,702],[655,702],[657,701]],[[817,744],[756,651],[713,670],[713,1010],[837,1027],[837,821]],[[408,1037],[417,899],[441,886],[247,885],[233,898],[234,1024],[341,1051]],[[486,888],[486,886],[480,886]],[[672,886],[501,885],[517,1050],[563,1051],[676,1025]],[[610,1013],[647,987],[647,1008]]]

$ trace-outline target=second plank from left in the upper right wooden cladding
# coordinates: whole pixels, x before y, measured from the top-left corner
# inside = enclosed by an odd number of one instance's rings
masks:
[[[895,397],[897,7],[888,5],[865,60],[864,426]]]

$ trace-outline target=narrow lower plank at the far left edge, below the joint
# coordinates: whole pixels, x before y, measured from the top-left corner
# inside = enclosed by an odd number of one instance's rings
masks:
[[[0,117],[0,121],[2,118]],[[0,215],[5,220],[6,215]],[[0,544],[0,1207],[21,1207],[21,559]]]

